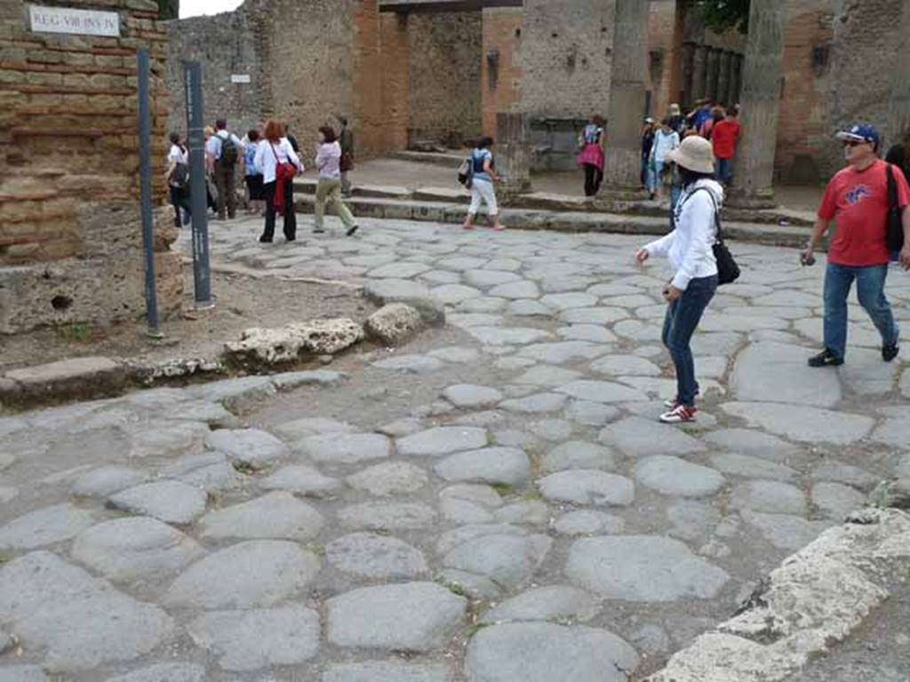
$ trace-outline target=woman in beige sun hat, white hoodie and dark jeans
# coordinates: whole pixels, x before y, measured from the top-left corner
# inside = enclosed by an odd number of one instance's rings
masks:
[[[695,362],[690,342],[704,309],[717,290],[717,262],[713,245],[717,235],[716,214],[723,204],[723,187],[714,177],[711,143],[699,136],[686,137],[668,160],[679,167],[682,196],[673,210],[673,230],[643,246],[635,254],[639,264],[651,256],[667,256],[674,274],[663,287],[670,306],[663,322],[663,345],[676,366],[676,397],[668,400],[665,424],[694,421]]]

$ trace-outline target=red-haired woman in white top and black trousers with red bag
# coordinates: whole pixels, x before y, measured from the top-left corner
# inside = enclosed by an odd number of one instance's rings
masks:
[[[284,216],[285,239],[292,242],[297,238],[294,176],[303,173],[303,163],[284,136],[284,128],[278,121],[266,124],[265,139],[256,148],[254,163],[262,171],[266,199],[266,226],[259,241],[270,244],[274,240],[275,214],[280,213]]]

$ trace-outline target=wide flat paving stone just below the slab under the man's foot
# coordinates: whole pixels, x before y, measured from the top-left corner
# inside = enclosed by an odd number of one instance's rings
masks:
[[[806,443],[850,445],[869,435],[875,420],[819,407],[775,403],[724,403],[723,411],[778,436]]]

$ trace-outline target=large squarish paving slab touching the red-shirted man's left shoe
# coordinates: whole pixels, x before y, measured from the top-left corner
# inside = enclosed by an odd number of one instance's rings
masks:
[[[730,390],[737,400],[834,407],[841,382],[806,364],[817,350],[770,342],[751,344],[736,358]]]

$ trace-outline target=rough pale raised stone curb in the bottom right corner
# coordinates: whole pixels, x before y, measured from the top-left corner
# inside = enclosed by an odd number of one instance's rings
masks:
[[[784,560],[739,614],[646,682],[774,682],[848,637],[910,571],[910,515],[866,508]]]

